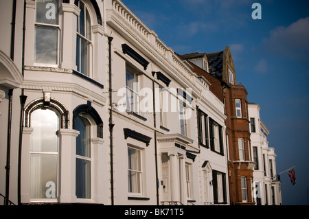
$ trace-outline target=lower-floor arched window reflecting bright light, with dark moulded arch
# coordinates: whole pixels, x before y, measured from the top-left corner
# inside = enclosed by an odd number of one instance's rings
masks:
[[[25,107],[24,116],[25,129],[32,130],[29,141],[23,141],[23,150],[30,152],[23,157],[23,162],[29,162],[24,167],[30,172],[30,201],[56,202],[60,194],[58,132],[69,128],[69,111],[58,100],[39,98]]]

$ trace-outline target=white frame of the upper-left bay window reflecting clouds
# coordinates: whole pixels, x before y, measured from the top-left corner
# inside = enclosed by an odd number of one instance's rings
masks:
[[[36,1],[36,9],[35,9],[35,21],[34,21],[34,66],[44,66],[44,67],[58,67],[60,65],[60,45],[61,45],[61,27],[60,27],[60,23],[62,23],[61,19],[62,16],[59,13],[59,8],[61,5],[61,1],[60,0],[56,0],[58,1],[58,8],[56,8],[56,16],[58,19],[58,23],[57,24],[51,24],[51,23],[42,23],[42,22],[37,22],[37,1]],[[47,10],[48,11],[48,10]],[[36,61],[36,51],[37,51],[37,46],[36,46],[36,34],[37,34],[37,29],[41,28],[41,27],[45,27],[48,28],[49,30],[54,30],[57,29],[57,39],[56,39],[56,63],[55,64],[50,64],[50,63],[44,63],[44,62],[37,62]]]

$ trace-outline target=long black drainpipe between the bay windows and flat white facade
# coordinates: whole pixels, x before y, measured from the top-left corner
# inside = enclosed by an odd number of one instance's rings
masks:
[[[111,68],[111,42],[113,41],[113,37],[108,36],[108,74],[109,74],[109,106],[111,107],[109,110],[109,140],[110,140],[110,148],[111,148],[111,205],[114,205],[114,168],[113,168],[113,128],[115,124],[113,124],[113,89],[112,89],[112,68]]]

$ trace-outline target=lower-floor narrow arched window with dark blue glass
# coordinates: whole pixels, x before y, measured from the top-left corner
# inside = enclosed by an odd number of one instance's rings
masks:
[[[76,117],[76,196],[91,198],[91,124],[83,115]]]

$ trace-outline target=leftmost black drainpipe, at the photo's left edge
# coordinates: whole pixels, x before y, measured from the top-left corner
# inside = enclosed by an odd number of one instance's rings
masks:
[[[11,51],[10,58],[14,61],[14,44],[15,44],[15,21],[16,21],[16,0],[13,1],[12,6],[12,23],[11,23]],[[12,128],[12,98],[13,89],[8,92],[9,106],[8,106],[8,139],[6,151],[6,178],[5,178],[5,205],[9,205],[10,198],[10,156],[11,156],[11,128]]]

